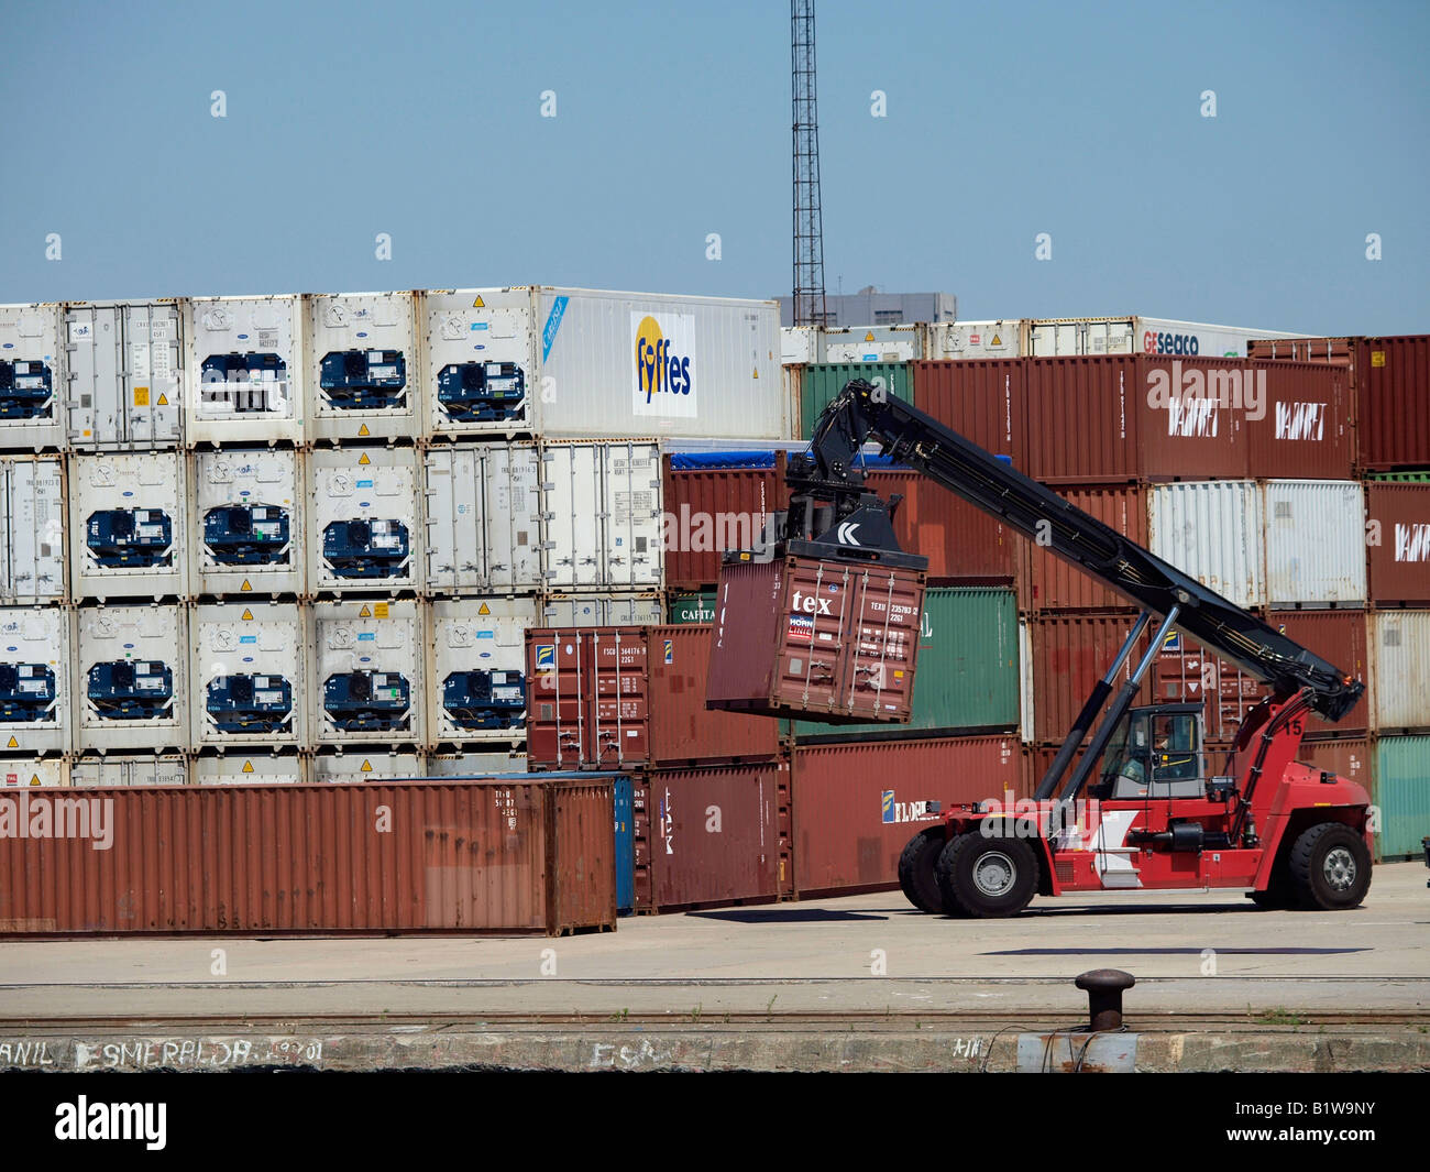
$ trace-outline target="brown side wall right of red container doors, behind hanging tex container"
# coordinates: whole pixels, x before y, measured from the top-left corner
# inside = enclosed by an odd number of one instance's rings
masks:
[[[705,707],[714,627],[649,628],[651,761],[772,761],[779,756],[779,721]]]

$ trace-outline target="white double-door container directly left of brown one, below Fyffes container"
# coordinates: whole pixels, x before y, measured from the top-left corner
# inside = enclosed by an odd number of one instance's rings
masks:
[[[541,459],[548,590],[661,590],[659,448],[548,444]]]

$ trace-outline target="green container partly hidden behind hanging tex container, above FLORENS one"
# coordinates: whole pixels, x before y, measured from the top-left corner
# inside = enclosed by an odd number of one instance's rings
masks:
[[[914,718],[908,724],[795,723],[795,737],[1018,727],[1018,604],[1011,590],[940,587],[924,594]]]

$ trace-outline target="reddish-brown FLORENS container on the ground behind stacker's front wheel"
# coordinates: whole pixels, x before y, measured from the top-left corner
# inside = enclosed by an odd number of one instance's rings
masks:
[[[794,750],[799,894],[895,887],[898,856],[944,809],[1027,796],[1017,737],[801,746]]]

